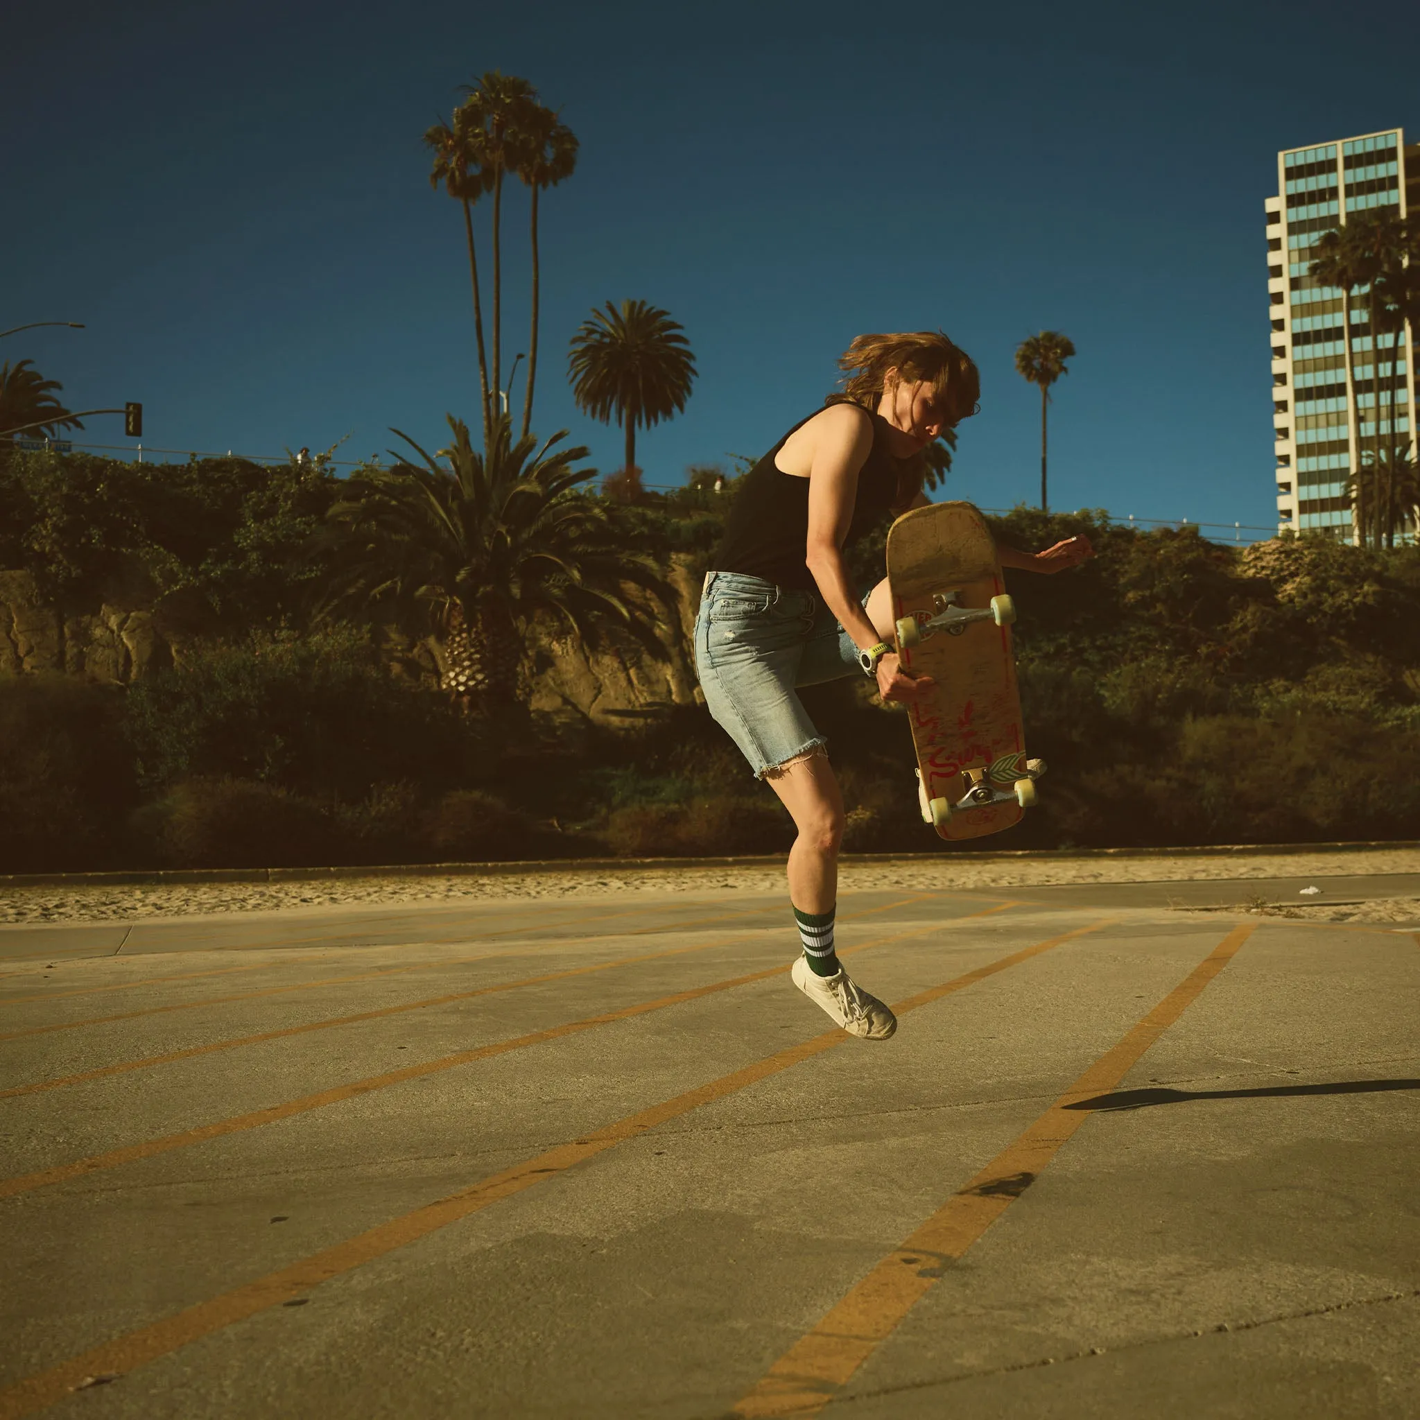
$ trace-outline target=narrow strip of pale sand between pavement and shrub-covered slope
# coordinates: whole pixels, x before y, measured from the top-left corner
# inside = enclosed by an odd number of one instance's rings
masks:
[[[883,859],[845,862],[843,892],[863,888],[1034,888],[1051,883],[1181,882],[1267,878],[1335,878],[1360,873],[1420,872],[1420,849],[1376,848],[1346,852],[1227,853],[1108,858]],[[538,866],[517,872],[459,875],[358,876],[285,882],[170,882],[160,885],[54,885],[0,888],[0,923],[141,922],[229,912],[280,912],[291,907],[371,907],[413,902],[487,902],[507,897],[602,897],[618,893],[772,892],[784,882],[782,865]],[[1254,906],[1245,893],[1240,906]],[[1275,907],[1269,910],[1277,910]],[[1299,899],[1287,912],[1343,922],[1403,922],[1420,916],[1409,899],[1384,899],[1353,907]]]

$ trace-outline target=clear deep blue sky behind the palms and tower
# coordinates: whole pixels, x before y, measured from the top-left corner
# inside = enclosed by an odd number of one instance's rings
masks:
[[[531,80],[581,139],[542,203],[534,427],[611,470],[567,344],[592,307],[665,307],[699,379],[638,440],[652,483],[760,454],[869,329],[944,328],[981,366],[951,491],[1274,523],[1262,199],[1275,152],[1409,125],[1420,7],[897,6],[740,0],[222,7],[7,17],[0,328],[71,408],[145,405],[145,443],[341,457],[473,417],[462,219],[420,135],[459,85]],[[487,213],[480,260],[488,270]],[[527,349],[527,206],[504,223],[504,348]],[[488,293],[484,293],[487,317]],[[525,369],[525,365],[523,366]],[[121,444],[116,419],[81,436]]]

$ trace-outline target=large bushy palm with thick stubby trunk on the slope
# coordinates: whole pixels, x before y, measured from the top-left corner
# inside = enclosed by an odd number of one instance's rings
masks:
[[[444,687],[493,711],[517,701],[532,618],[559,618],[589,643],[621,626],[663,655],[648,598],[629,594],[639,588],[665,606],[676,595],[649,557],[615,537],[606,510],[577,491],[596,476],[572,467],[586,450],[554,449],[565,430],[541,447],[513,443],[511,423],[497,412],[480,454],[450,415],[453,443],[433,457],[396,429],[422,463],[396,453],[390,469],[356,470],[328,513],[338,557],[324,609],[422,611],[447,638]]]

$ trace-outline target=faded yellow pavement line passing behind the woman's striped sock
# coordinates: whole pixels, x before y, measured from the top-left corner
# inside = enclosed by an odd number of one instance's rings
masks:
[[[893,907],[902,907],[913,902],[926,902],[937,893],[923,893],[916,897],[902,897],[897,902],[885,903],[880,907],[869,907],[862,913],[855,913],[855,917],[865,917],[876,914],[879,912],[889,912]],[[998,907],[990,907],[983,913],[970,913],[971,917],[988,916],[995,912],[1004,912],[1010,903],[1001,905]],[[963,922],[964,917],[954,917],[953,922]],[[927,932],[940,930],[941,923],[934,922],[926,927],[922,927],[913,933],[905,933],[900,936],[923,936]],[[883,941],[896,941],[899,937],[878,937],[873,941],[863,943],[862,946],[846,949],[839,953],[841,956],[849,956],[855,951],[863,951],[866,947],[879,946]],[[687,950],[687,949],[677,949]],[[693,949],[689,949],[693,950]],[[674,956],[677,951],[655,953],[655,956]],[[629,957],[626,961],[635,961],[638,958]],[[626,964],[615,963],[618,966]],[[577,971],[568,973],[569,976],[578,976],[585,970],[578,968]],[[381,1075],[372,1075],[366,1079],[351,1081],[345,1085],[334,1085],[329,1089],[317,1091],[311,1095],[302,1095],[298,1099],[290,1099],[280,1105],[270,1105],[266,1109],[254,1109],[244,1115],[234,1115],[229,1119],[219,1119],[210,1125],[199,1125],[195,1129],[185,1129],[179,1133],[165,1135],[159,1139],[146,1139],[142,1143],[126,1145],[119,1149],[109,1149],[99,1154],[89,1154],[84,1159],[75,1159],[70,1163],[55,1164],[50,1169],[40,1169],[34,1173],[17,1174],[11,1179],[0,1180],[0,1198],[10,1198],[21,1193],[33,1193],[36,1189],[44,1189],[55,1183],[65,1183],[70,1179],[78,1179],[89,1173],[98,1173],[104,1169],[116,1169],[126,1163],[135,1163],[139,1159],[151,1159],[155,1154],[170,1153],[175,1149],[186,1149],[192,1145],[204,1143],[209,1139],[217,1139],[224,1135],[243,1133],[247,1129],[258,1129],[263,1125],[275,1123],[281,1119],[291,1119],[295,1115],[310,1113],[312,1109],[324,1109],[327,1105],[337,1105],[346,1099],[354,1099],[359,1095],[369,1095],[378,1089],[388,1089],[390,1085],[400,1085],[410,1079],[422,1079],[429,1075],[440,1075],[444,1071],[456,1069],[460,1065],[469,1065],[473,1061],[490,1059],[494,1055],[506,1055],[510,1051],[525,1049],[530,1045],[541,1045],[547,1041],[561,1039],[567,1035],[575,1035],[581,1031],[591,1030],[595,1025],[608,1025],[613,1021],[629,1020],[635,1015],[643,1015],[648,1011],[660,1011],[672,1005],[680,1005],[686,1001],[694,1001],[704,995],[713,995],[719,991],[730,991],[734,987],[747,985],[751,981],[763,981],[771,976],[788,971],[788,966],[777,964],[765,971],[751,971],[747,976],[731,977],[724,981],[716,981],[710,985],[694,987],[689,991],[676,991],[670,995],[657,997],[653,1001],[642,1001],[636,1005],[623,1007],[619,1011],[606,1011],[599,1015],[586,1017],[581,1021],[571,1021],[565,1025],[554,1025],[541,1031],[531,1031],[527,1035],[520,1035],[508,1041],[497,1041],[491,1045],[479,1045],[467,1051],[456,1051],[452,1055],[443,1055],[439,1059],[425,1061],[420,1065],[405,1065],[396,1071],[386,1071]]]

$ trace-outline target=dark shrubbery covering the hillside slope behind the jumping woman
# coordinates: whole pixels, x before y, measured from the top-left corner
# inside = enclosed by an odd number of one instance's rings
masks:
[[[638,547],[703,554],[734,497],[618,507]],[[0,450],[0,567],[67,604],[141,567],[216,639],[126,692],[0,680],[0,872],[777,852],[792,825],[706,711],[632,731],[490,723],[317,626],[324,474]],[[1234,550],[1100,514],[994,520],[1078,572],[1008,574],[1041,807],[990,848],[1420,838],[1420,552]],[[880,575],[882,537],[853,552]],[[178,605],[172,602],[172,605]],[[937,846],[907,724],[858,677],[805,692],[851,852]]]

